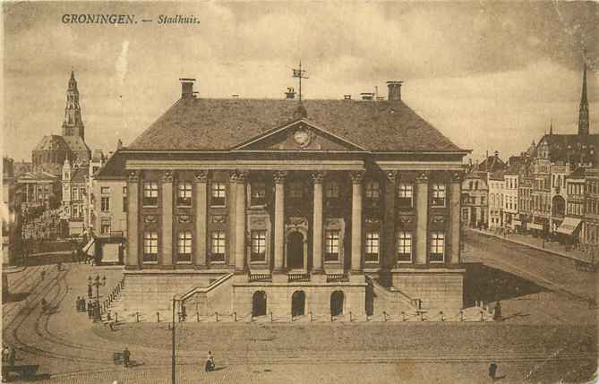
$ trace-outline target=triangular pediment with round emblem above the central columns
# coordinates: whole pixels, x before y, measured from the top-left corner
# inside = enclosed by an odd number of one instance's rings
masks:
[[[263,132],[237,145],[234,150],[322,150],[365,151],[326,129],[301,118],[284,126]]]

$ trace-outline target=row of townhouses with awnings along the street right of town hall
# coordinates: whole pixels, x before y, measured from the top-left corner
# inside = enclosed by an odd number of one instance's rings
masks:
[[[589,132],[586,69],[577,134],[543,135],[507,162],[499,152],[470,164],[462,185],[462,220],[510,228],[595,249],[599,244],[599,134]]]

